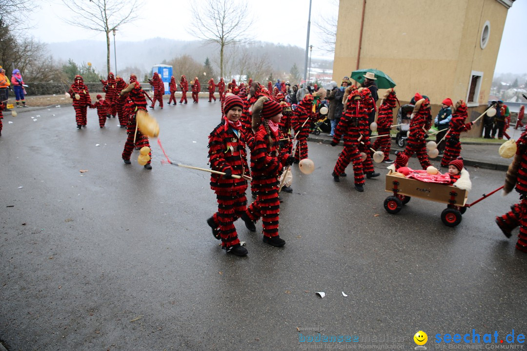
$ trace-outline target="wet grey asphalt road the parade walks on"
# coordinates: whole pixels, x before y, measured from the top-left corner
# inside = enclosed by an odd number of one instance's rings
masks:
[[[219,111],[205,99],[155,109],[168,155],[208,168]],[[411,349],[417,330],[429,348],[437,333],[527,333],[527,255],[514,249],[518,229],[506,239],[494,223],[516,193],[483,200],[454,228],[441,222],[445,205],[422,199],[391,215],[386,165],[358,193],[351,168],[340,183],[330,176],[340,147],[309,143],[315,172],[295,167],[294,193],[282,194],[286,246],[238,221],[249,255],[232,257],[206,224],[217,209],[208,173],[161,165],[155,141],[152,171],[136,152],[124,165],[117,119],[100,129],[94,110],[88,118],[79,131],[71,106],[5,114],[0,341],[9,351],[324,346],[299,342],[299,329],[357,336],[326,348]],[[503,184],[504,172],[468,169],[469,202]]]

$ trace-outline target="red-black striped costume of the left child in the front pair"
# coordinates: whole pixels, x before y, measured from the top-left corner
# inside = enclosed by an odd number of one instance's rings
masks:
[[[226,116],[209,135],[209,163],[214,171],[226,172],[230,169],[235,175],[248,175],[247,152],[241,125],[229,123]],[[210,188],[216,193],[218,212],[212,216],[214,225],[220,228],[222,247],[240,243],[234,222],[247,210],[247,180],[219,174],[210,176]]]

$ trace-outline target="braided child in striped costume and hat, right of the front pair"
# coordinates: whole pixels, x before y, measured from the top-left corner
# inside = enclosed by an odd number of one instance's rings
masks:
[[[252,130],[255,133],[248,141],[251,150],[252,191],[256,200],[247,208],[250,220],[245,224],[252,232],[255,222],[261,217],[264,243],[281,247],[286,244],[278,234],[280,202],[278,199],[278,177],[282,168],[292,165],[295,158],[279,151],[278,128],[282,117],[282,106],[266,96],[258,99],[252,109]]]

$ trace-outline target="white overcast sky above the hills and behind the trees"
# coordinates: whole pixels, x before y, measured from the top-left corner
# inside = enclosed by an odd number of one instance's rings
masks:
[[[72,0],[73,1],[73,0]],[[199,1],[199,0],[196,0]],[[86,0],[86,4],[89,2]],[[306,46],[309,0],[247,1],[255,13],[251,37],[257,41]],[[104,41],[100,32],[65,24],[59,17],[67,14],[58,0],[39,0],[41,8],[31,15],[33,28],[28,34],[44,43],[69,42],[75,39]],[[338,0],[313,0],[311,8],[311,38],[313,57],[330,55],[321,50],[320,31],[315,25],[331,23],[337,18]],[[507,16],[495,74],[527,73],[527,0],[516,0]],[[141,19],[123,25],[116,34],[117,41],[142,41],[153,37],[194,40],[186,29],[192,25],[190,1],[149,0],[141,11]],[[492,30],[492,26],[491,26]],[[113,39],[113,38],[112,38]]]

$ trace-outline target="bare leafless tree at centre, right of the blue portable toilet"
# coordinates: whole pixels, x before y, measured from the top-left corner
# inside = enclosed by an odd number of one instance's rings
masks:
[[[192,15],[196,25],[189,33],[207,43],[220,47],[220,77],[223,77],[225,48],[246,42],[247,29],[251,23],[248,15],[248,2],[233,0],[194,1]]]

